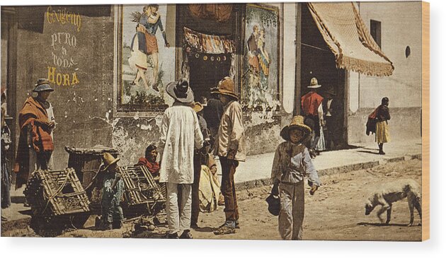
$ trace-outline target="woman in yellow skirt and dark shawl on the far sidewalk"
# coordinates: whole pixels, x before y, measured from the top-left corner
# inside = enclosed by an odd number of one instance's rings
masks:
[[[379,146],[379,154],[384,155],[386,153],[382,151],[382,146],[384,145],[384,143],[390,141],[389,125],[387,122],[387,120],[390,120],[389,98],[382,98],[381,105],[379,105],[376,110],[376,118],[377,126],[375,141],[378,143]]]

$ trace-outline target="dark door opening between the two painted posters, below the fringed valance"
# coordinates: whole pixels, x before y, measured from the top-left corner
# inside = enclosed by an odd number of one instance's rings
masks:
[[[195,101],[210,98],[210,88],[216,87],[225,76],[229,76],[231,56],[215,54],[191,54],[188,57],[190,88]]]

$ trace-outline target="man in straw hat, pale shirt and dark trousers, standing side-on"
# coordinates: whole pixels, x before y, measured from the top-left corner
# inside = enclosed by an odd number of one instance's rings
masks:
[[[243,112],[239,98],[235,93],[234,81],[225,77],[218,84],[220,100],[224,112],[215,139],[215,155],[219,156],[222,165],[222,194],[224,196],[224,213],[226,221],[215,235],[235,233],[239,228],[239,209],[237,206],[234,174],[239,161],[245,161],[245,134]]]

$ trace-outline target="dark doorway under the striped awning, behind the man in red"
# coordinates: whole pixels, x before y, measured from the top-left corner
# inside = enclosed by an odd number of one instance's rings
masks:
[[[336,95],[338,115],[336,115],[336,140],[338,147],[346,146],[345,114],[345,70],[336,68],[333,52],[328,49],[314,19],[309,12],[307,4],[302,4],[302,43],[301,43],[301,95],[309,92],[311,78],[316,77],[322,86],[318,93],[325,97],[324,92],[333,87]]]

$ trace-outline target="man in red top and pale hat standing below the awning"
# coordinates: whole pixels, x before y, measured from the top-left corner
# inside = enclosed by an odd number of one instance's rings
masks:
[[[314,156],[316,151],[316,144],[321,136],[321,125],[324,125],[324,111],[322,110],[322,100],[324,98],[316,92],[317,88],[321,88],[321,85],[317,82],[316,78],[311,78],[309,93],[305,94],[301,98],[302,115],[305,117],[305,124],[307,124],[312,131],[314,131],[314,137],[311,140],[309,146],[311,156]]]

